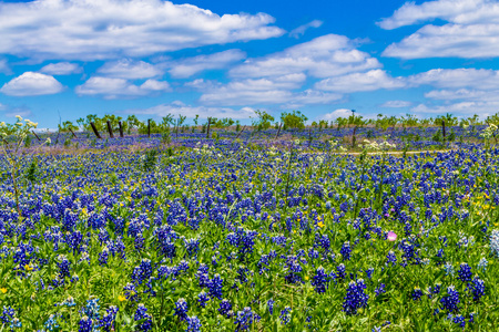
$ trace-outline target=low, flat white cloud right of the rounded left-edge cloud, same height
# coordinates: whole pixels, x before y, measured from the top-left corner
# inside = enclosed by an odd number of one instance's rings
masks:
[[[105,98],[138,97],[155,92],[170,91],[167,82],[147,80],[142,85],[135,85],[124,79],[94,76],[77,86],[80,95],[102,95]]]

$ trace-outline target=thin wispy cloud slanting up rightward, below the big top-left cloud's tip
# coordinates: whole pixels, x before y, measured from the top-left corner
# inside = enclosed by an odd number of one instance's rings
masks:
[[[224,69],[244,58],[246,58],[246,53],[241,50],[227,50],[208,55],[197,55],[171,63],[169,73],[173,77],[185,79],[205,70]]]

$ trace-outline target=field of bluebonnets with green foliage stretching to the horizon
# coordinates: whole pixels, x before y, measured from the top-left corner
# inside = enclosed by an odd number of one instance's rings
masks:
[[[495,127],[438,129],[21,137],[0,331],[495,331]]]

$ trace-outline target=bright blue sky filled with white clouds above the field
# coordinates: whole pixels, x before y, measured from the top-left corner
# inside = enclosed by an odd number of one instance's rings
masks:
[[[499,2],[0,1],[0,121],[499,111]]]

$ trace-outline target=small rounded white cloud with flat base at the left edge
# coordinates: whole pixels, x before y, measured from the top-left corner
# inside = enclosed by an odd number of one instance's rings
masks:
[[[0,92],[13,96],[55,94],[63,90],[61,83],[53,76],[26,72],[22,75],[3,84]]]

